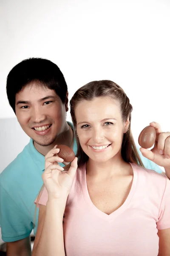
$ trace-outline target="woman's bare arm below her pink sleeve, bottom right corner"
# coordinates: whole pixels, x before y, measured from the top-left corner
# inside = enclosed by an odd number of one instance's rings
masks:
[[[170,228],[158,230],[159,253],[158,256],[170,256]]]

